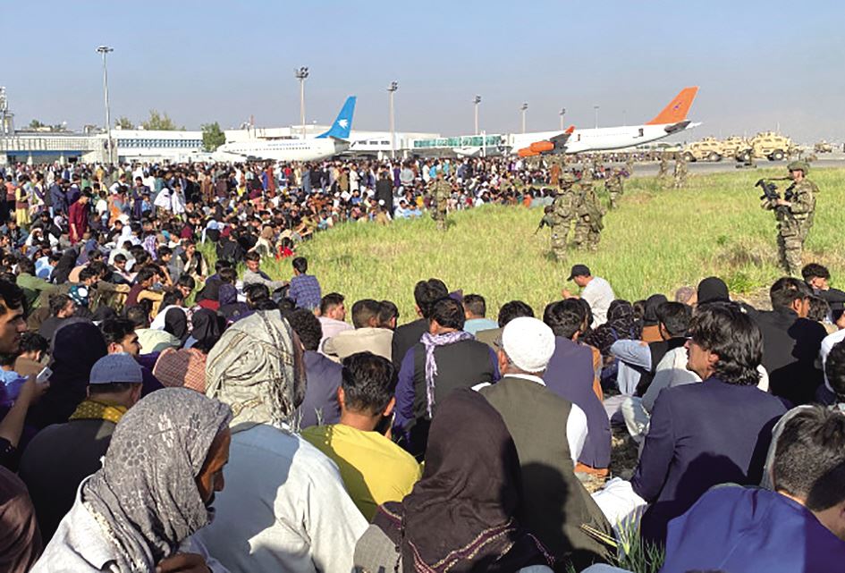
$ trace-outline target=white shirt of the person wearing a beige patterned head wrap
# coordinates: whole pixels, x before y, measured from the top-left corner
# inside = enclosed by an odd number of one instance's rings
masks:
[[[317,448],[259,424],[232,434],[225,478],[215,520],[199,535],[232,572],[351,571],[367,520]]]

